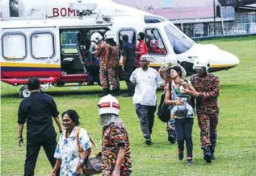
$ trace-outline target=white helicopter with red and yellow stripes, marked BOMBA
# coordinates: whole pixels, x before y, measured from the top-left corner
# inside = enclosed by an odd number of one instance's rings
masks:
[[[150,66],[156,69],[179,63],[189,75],[201,55],[209,59],[210,72],[239,64],[237,56],[215,45],[196,43],[166,18],[111,0],[1,0],[1,80],[23,85],[21,97],[30,96],[26,85],[30,77],[38,77],[44,89],[69,83],[80,88],[86,85],[88,75],[77,48],[90,41],[94,32],[104,35],[109,30],[120,45],[122,35],[136,45],[137,34],[145,32],[153,58]]]

